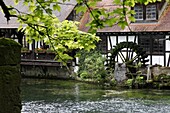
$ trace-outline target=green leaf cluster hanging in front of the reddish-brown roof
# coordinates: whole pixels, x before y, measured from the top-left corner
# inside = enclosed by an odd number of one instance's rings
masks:
[[[87,10],[91,15],[91,22],[88,24],[90,32],[96,32],[98,28],[104,28],[106,25],[113,26],[118,24],[124,29],[130,22],[134,22],[134,10],[130,10],[136,3],[148,4],[161,0],[113,0],[113,5],[120,6],[112,11],[107,11],[104,8],[96,8],[97,3],[102,0],[77,0],[79,7],[77,12],[86,12]],[[82,5],[83,4],[83,5]],[[129,28],[130,29],[130,28]]]

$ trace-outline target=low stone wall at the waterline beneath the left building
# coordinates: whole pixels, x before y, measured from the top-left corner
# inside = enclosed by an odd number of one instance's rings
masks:
[[[21,74],[25,78],[71,78],[65,66],[21,65]]]

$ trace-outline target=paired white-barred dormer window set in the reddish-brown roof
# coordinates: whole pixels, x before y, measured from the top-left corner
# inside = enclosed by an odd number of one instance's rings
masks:
[[[134,7],[135,11],[135,19],[137,21],[150,21],[150,20],[157,20],[157,8],[156,4],[149,4],[145,5],[136,5]]]

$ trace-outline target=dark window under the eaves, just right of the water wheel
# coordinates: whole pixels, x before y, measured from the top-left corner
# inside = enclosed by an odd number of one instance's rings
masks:
[[[154,55],[163,55],[164,54],[164,35],[140,35],[139,36],[139,45],[148,53]]]

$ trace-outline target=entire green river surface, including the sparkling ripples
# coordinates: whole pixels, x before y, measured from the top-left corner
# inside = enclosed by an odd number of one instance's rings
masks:
[[[108,89],[64,80],[22,80],[22,113],[170,113],[170,90]]]

